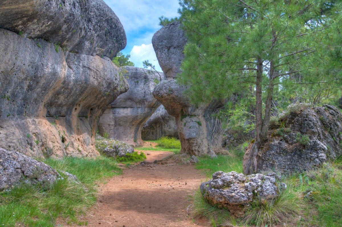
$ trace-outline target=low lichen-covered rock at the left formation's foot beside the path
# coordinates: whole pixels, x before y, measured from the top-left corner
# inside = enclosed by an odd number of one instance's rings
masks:
[[[101,136],[96,137],[95,146],[98,152],[114,158],[116,156],[123,157],[126,156],[127,153],[134,152],[133,147],[127,143],[114,139],[105,139]]]

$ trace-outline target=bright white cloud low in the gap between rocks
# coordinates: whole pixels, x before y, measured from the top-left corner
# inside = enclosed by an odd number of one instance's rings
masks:
[[[156,66],[156,70],[161,72],[161,68],[158,64],[156,53],[154,52],[152,43],[141,44],[140,46],[134,45],[131,50],[130,61],[134,62],[136,67],[143,67],[143,61],[148,60],[150,63]]]

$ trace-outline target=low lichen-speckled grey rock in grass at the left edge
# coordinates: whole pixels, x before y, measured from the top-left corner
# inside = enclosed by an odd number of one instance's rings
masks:
[[[43,162],[0,148],[0,191],[22,182],[47,187],[60,177],[56,170]]]

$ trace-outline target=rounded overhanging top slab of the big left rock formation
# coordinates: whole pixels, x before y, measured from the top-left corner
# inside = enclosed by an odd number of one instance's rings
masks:
[[[0,28],[86,55],[113,58],[126,46],[120,20],[102,0],[4,0]]]

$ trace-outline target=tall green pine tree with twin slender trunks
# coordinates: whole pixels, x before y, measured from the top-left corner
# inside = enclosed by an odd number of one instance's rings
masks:
[[[267,139],[275,87],[296,75],[314,83],[324,78],[327,67],[317,58],[327,53],[322,47],[325,32],[339,26],[330,19],[340,14],[339,7],[329,2],[334,8],[329,9],[319,0],[180,4],[188,43],[178,81],[190,87],[196,103],[228,97],[252,85],[256,139],[251,152],[256,155]]]

